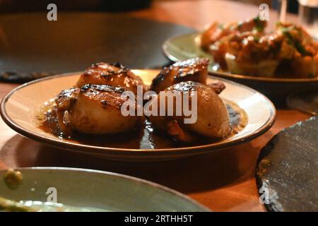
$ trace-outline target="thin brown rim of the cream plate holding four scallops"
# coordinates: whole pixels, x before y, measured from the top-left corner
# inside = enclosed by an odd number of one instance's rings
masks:
[[[139,71],[159,71],[159,70],[155,70],[155,69],[133,69],[134,70],[139,70]],[[37,134],[33,131],[29,131],[28,129],[24,129],[23,126],[19,126],[18,124],[16,124],[16,122],[11,119],[11,117],[8,116],[8,112],[6,112],[6,102],[8,102],[9,98],[11,97],[11,95],[13,95],[13,93],[16,93],[16,91],[25,88],[28,85],[33,85],[34,83],[40,83],[42,81],[47,81],[50,79],[54,79],[54,78],[60,78],[60,77],[66,77],[66,76],[76,76],[79,75],[80,73],[82,73],[82,71],[78,71],[78,72],[73,72],[73,73],[63,73],[63,74],[59,74],[59,75],[55,75],[55,76],[48,76],[45,78],[39,78],[35,81],[30,81],[28,83],[24,83],[22,85],[19,85],[18,87],[14,88],[13,90],[11,90],[9,93],[7,93],[4,98],[1,100],[1,104],[0,104],[0,115],[1,118],[4,120],[4,122],[14,131],[16,131],[17,133],[20,133],[20,135],[25,136],[27,138],[31,138],[35,141],[39,141],[42,143],[45,143],[47,145],[52,145],[54,147],[59,147],[62,149],[67,149],[67,150],[73,150],[76,151],[78,153],[84,153],[84,154],[91,154],[91,153],[95,153],[95,154],[108,154],[108,155],[117,155],[120,156],[121,154],[129,154],[129,155],[135,155],[136,157],[144,157],[145,155],[149,156],[152,155],[153,157],[155,156],[160,156],[160,155],[182,155],[182,154],[201,154],[201,153],[208,153],[208,152],[212,152],[214,150],[220,150],[223,148],[228,148],[232,145],[237,145],[239,143],[245,143],[247,141],[252,140],[253,138],[257,138],[258,136],[261,136],[263,133],[265,133],[266,131],[268,131],[269,129],[271,129],[271,126],[273,126],[274,122],[276,121],[276,107],[273,105],[273,103],[271,102],[271,100],[269,100],[268,97],[266,97],[265,95],[263,95],[262,93],[260,93],[257,90],[254,90],[252,88],[249,88],[246,85],[242,85],[240,83],[235,83],[233,81],[229,81],[227,79],[224,78],[218,78],[218,77],[214,77],[214,76],[210,76],[210,78],[219,80],[219,81],[225,81],[226,83],[232,83],[233,85],[238,85],[241,86],[245,89],[251,90],[254,93],[257,93],[259,95],[261,95],[261,97],[264,98],[264,100],[266,100],[267,104],[269,105],[269,109],[271,112],[270,117],[266,120],[266,122],[259,127],[259,129],[257,129],[256,131],[254,131],[253,133],[249,134],[248,136],[244,136],[240,139],[237,140],[232,140],[232,141],[228,141],[227,143],[209,143],[206,145],[196,145],[196,146],[190,146],[190,147],[183,147],[183,148],[158,148],[158,149],[136,149],[136,148],[110,148],[110,147],[100,147],[100,146],[94,146],[94,145],[86,145],[86,144],[81,144],[81,143],[72,143],[69,141],[64,141],[64,140],[58,140],[57,138],[49,138],[47,136],[41,135],[41,134]],[[89,151],[89,153],[88,153]]]

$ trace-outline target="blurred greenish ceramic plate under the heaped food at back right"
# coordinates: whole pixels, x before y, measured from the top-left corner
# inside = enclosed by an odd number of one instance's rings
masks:
[[[271,99],[285,98],[288,94],[299,90],[318,89],[318,78],[261,78],[236,75],[224,71],[218,71],[213,67],[213,57],[199,47],[199,33],[191,33],[171,37],[163,44],[163,52],[172,61],[183,61],[194,57],[206,57],[211,64],[208,71],[213,76],[228,78],[261,91]]]

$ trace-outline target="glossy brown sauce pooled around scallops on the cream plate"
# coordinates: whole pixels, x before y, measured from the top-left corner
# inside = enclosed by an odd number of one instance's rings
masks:
[[[49,104],[51,102],[51,104]],[[173,141],[165,133],[156,131],[151,122],[146,120],[138,129],[126,133],[91,135],[78,133],[74,131],[71,136],[64,137],[57,119],[57,110],[52,100],[46,103],[45,107],[40,110],[37,117],[39,127],[47,133],[51,133],[58,138],[73,143],[85,145],[95,145],[107,148],[131,148],[131,149],[160,149],[160,148],[182,148],[196,145],[204,145],[221,141],[220,139],[204,138],[196,143],[181,143]],[[244,129],[247,124],[247,114],[240,109],[235,103],[225,101],[230,116],[231,134],[227,137],[234,136]],[[226,139],[226,138],[225,138]]]

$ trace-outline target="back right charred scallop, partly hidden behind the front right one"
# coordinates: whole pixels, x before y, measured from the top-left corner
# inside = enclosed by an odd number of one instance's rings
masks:
[[[208,76],[208,59],[195,58],[177,62],[163,68],[153,79],[151,90],[159,93],[162,90],[184,81],[206,84]]]

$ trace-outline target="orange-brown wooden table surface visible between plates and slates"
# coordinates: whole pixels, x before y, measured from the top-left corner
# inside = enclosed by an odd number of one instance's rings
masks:
[[[213,20],[240,20],[255,16],[258,11],[257,6],[230,1],[157,1],[152,8],[126,14],[201,29]],[[274,12],[271,18],[276,19]],[[289,19],[295,20],[295,16]],[[1,83],[0,98],[14,87]],[[0,169],[36,166],[102,169],[169,186],[211,210],[264,211],[254,179],[259,151],[278,131],[309,117],[296,110],[278,109],[276,124],[254,141],[207,155],[152,163],[98,160],[50,148],[20,136],[0,119]]]

